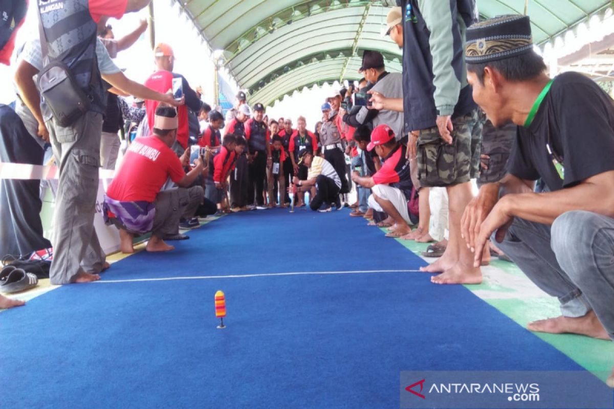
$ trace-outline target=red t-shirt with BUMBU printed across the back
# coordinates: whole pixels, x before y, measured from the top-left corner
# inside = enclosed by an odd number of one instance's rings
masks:
[[[177,183],[184,168],[171,148],[155,136],[139,137],[130,144],[107,196],[120,202],[153,202],[170,177]]]

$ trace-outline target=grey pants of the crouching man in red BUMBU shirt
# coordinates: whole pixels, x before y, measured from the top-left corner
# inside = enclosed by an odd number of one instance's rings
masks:
[[[203,202],[203,188],[171,188],[158,193],[153,202],[155,217],[152,234],[160,239],[179,232],[179,218],[190,218]]]

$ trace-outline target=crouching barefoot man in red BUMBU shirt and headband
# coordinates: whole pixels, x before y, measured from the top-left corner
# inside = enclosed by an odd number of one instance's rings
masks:
[[[162,238],[176,232],[179,218],[192,217],[203,202],[201,186],[187,188],[203,172],[203,163],[196,159],[195,167],[185,174],[181,159],[171,149],[177,124],[174,108],[158,107],[153,135],[134,140],[109,185],[104,215],[107,224],[119,228],[122,253],[133,253],[134,235],[146,232],[152,232],[147,251],[173,250]],[[160,191],[168,178],[179,188]]]

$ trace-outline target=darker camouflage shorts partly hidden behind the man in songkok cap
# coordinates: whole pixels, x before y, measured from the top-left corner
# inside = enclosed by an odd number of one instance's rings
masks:
[[[482,153],[489,159],[483,159],[488,169],[480,169],[478,186],[499,182],[507,173],[507,162],[511,147],[516,139],[516,125],[507,124],[495,128],[491,121],[486,121],[482,131]]]

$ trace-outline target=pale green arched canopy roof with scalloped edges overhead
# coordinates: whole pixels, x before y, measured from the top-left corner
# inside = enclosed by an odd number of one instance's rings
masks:
[[[177,1],[177,0],[176,0]],[[435,0],[429,0],[435,1]],[[525,0],[477,0],[483,18],[524,13]],[[363,50],[401,71],[401,50],[382,36],[394,0],[179,0],[250,102],[335,80],[356,80]],[[609,6],[609,0],[529,0],[534,42],[543,44]]]

